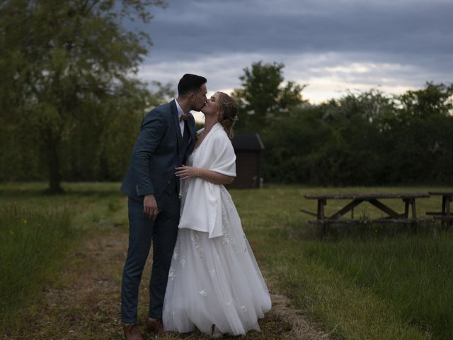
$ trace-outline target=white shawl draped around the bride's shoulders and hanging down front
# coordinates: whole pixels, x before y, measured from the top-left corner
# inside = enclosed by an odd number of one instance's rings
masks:
[[[193,166],[236,176],[235,162],[233,145],[222,125],[216,123],[193,152]],[[184,183],[187,185],[187,193],[183,198],[183,212],[178,227],[208,232],[210,238],[222,236],[221,185],[200,177],[184,181],[187,181]]]

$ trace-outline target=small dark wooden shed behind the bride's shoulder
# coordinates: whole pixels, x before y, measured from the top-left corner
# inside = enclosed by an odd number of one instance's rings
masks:
[[[235,135],[236,179],[229,188],[260,188],[260,152],[264,149],[260,136]]]

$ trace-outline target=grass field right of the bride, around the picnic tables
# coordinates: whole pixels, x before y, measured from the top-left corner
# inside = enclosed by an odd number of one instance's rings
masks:
[[[340,339],[453,339],[453,237],[437,225],[331,227],[319,238],[299,208],[304,193],[424,192],[436,188],[298,188],[234,191],[260,263],[294,305]],[[440,190],[440,188],[437,188]],[[446,188],[443,188],[446,190]],[[451,190],[451,188],[449,188]],[[439,210],[420,200],[418,213]],[[338,202],[326,206],[335,212]],[[391,206],[403,210],[401,200]],[[328,214],[327,214],[328,215]],[[356,216],[380,217],[372,206]]]

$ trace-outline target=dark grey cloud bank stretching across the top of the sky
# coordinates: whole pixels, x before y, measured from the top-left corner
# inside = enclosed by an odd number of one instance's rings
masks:
[[[156,47],[205,53],[453,50],[445,41],[453,38],[453,3],[320,2],[170,1],[150,33]]]

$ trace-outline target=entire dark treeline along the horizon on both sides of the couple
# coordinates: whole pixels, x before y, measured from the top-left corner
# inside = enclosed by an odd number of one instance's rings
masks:
[[[282,67],[254,63],[247,70],[275,76],[281,75]],[[246,78],[251,81],[255,76]],[[260,81],[270,84],[268,77]],[[287,83],[282,87],[282,83],[281,77],[273,92],[243,81],[232,94],[240,107],[235,133],[258,133],[265,145],[260,169],[265,183],[453,183],[451,84],[427,83],[424,89],[399,96],[371,89],[314,105],[302,99],[304,86]],[[247,94],[248,86],[261,91]],[[149,96],[159,103],[171,94],[170,86],[161,86],[161,91]],[[253,108],[255,102],[261,107]],[[103,120],[85,115],[59,145],[62,179],[121,181],[146,112],[136,106],[133,112],[127,107],[110,111]],[[1,126],[1,181],[48,179],[39,138],[14,121]]]

